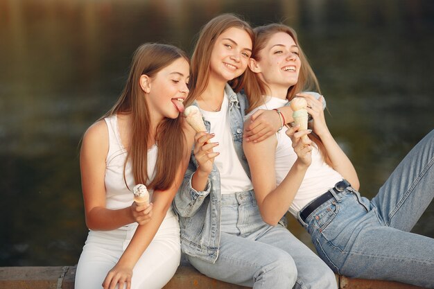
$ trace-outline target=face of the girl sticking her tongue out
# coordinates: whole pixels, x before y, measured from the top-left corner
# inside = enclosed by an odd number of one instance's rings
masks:
[[[184,58],[177,58],[153,78],[141,76],[140,85],[146,92],[149,111],[156,121],[164,117],[176,119],[184,111],[182,102],[189,94],[188,82],[189,62]]]

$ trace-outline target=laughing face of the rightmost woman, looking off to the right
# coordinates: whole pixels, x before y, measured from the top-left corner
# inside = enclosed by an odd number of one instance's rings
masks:
[[[273,34],[259,51],[257,60],[250,60],[250,68],[259,73],[276,97],[286,97],[288,88],[295,85],[301,68],[299,49],[288,33]]]

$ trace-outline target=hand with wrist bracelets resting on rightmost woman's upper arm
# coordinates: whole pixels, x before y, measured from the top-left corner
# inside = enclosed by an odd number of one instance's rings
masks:
[[[275,110],[257,110],[244,123],[245,141],[259,143],[281,128],[279,114]]]

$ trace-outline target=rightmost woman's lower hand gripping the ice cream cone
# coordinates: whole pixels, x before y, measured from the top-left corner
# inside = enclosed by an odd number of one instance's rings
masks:
[[[310,166],[312,163],[312,141],[307,136],[312,130],[299,131],[299,125],[286,130],[286,135],[290,137],[293,143],[293,149],[297,154],[297,160],[304,166]]]

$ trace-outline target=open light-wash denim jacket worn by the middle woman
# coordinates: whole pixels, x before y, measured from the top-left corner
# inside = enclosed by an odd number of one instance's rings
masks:
[[[226,85],[225,91],[229,96],[229,126],[236,155],[250,177],[243,152],[243,119],[248,101],[243,94],[235,94],[229,85]],[[193,105],[197,105],[196,101]],[[208,121],[205,121],[205,126],[209,132]],[[173,200],[173,208],[180,217],[181,249],[189,256],[215,263],[220,245],[220,173],[214,164],[205,191],[196,191],[191,187],[191,177],[196,168],[198,163],[192,150],[189,167]]]

